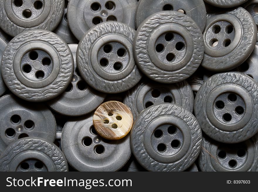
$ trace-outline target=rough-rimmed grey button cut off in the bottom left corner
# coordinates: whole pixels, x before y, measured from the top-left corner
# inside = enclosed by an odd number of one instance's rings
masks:
[[[7,146],[0,156],[0,171],[68,171],[68,163],[54,143],[40,137],[28,137]]]

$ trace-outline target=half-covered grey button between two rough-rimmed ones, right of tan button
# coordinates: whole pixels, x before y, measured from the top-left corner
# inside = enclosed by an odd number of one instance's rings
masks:
[[[161,103],[175,103],[192,112],[194,98],[191,87],[186,81],[162,84],[142,80],[127,92],[123,103],[131,109],[136,119],[144,109]]]

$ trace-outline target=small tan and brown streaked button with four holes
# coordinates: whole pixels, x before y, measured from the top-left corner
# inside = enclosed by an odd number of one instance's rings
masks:
[[[118,140],[130,132],[133,126],[133,114],[125,104],[108,101],[96,109],[93,124],[100,136]]]

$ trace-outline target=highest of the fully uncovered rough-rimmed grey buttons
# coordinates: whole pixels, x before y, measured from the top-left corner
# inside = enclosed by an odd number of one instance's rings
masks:
[[[133,46],[138,68],[150,79],[167,84],[193,75],[204,55],[200,28],[178,11],[149,16],[139,25]]]

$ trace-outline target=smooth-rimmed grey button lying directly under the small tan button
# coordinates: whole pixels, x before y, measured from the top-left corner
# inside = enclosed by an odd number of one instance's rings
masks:
[[[62,131],[62,150],[78,171],[117,171],[131,155],[130,136],[102,138],[94,128],[93,114],[70,119]]]

